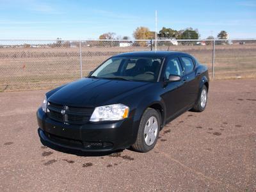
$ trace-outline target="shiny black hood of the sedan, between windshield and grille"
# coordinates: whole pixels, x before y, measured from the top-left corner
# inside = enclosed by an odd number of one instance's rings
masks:
[[[136,92],[147,84],[148,82],[83,78],[61,86],[55,92],[49,92],[47,97],[56,104],[93,108],[108,104],[109,100],[113,102],[115,97],[127,92]]]

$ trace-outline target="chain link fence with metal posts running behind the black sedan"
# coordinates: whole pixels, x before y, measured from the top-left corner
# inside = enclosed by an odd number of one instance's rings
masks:
[[[156,48],[192,54],[214,79],[256,77],[256,40],[0,40],[0,92],[52,88],[115,54]]]

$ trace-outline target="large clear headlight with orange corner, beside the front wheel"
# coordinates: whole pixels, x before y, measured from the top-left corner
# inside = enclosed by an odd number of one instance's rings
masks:
[[[129,107],[123,104],[101,106],[94,109],[90,118],[91,122],[122,120],[129,115]]]

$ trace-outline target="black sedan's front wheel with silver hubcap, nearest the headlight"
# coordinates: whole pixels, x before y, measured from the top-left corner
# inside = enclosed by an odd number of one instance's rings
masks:
[[[136,142],[132,145],[134,150],[148,152],[155,147],[160,131],[160,119],[155,109],[146,109],[140,120]]]

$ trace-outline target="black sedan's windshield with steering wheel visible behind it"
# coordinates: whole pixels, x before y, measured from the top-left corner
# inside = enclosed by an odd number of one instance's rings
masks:
[[[113,57],[90,77],[126,81],[157,81],[163,58]]]

